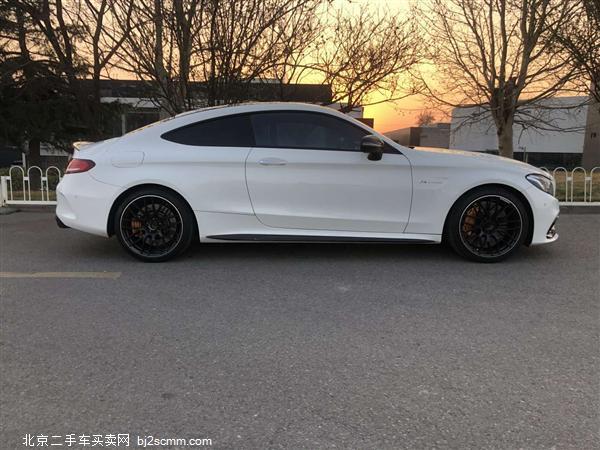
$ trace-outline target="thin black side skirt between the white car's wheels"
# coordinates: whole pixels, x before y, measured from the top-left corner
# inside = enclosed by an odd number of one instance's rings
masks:
[[[310,236],[293,234],[217,234],[206,236],[207,239],[220,241],[254,241],[254,242],[353,242],[382,244],[431,244],[430,239],[378,238],[354,236]]]

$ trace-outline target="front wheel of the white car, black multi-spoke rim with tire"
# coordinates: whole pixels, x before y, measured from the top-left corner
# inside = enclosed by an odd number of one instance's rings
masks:
[[[471,261],[502,261],[525,242],[530,217],[523,201],[502,187],[481,187],[467,192],[452,206],[445,240]]]

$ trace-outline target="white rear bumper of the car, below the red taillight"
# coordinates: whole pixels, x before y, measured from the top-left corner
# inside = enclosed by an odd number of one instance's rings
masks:
[[[56,188],[56,218],[63,226],[108,236],[106,224],[119,188],[86,173],[63,177]],[[60,225],[59,225],[60,226]]]

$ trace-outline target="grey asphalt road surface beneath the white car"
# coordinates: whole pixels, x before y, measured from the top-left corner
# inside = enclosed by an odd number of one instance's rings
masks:
[[[1,271],[92,277],[0,279],[2,449],[26,433],[600,448],[599,215],[563,215],[555,245],[497,265],[341,244],[144,264],[51,214],[0,224]]]

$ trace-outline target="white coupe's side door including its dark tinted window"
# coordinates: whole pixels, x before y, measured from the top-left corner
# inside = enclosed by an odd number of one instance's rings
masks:
[[[388,147],[370,161],[368,134],[326,113],[277,111],[251,116],[255,146],[246,160],[252,207],[277,228],[401,233],[411,205],[408,159]]]

